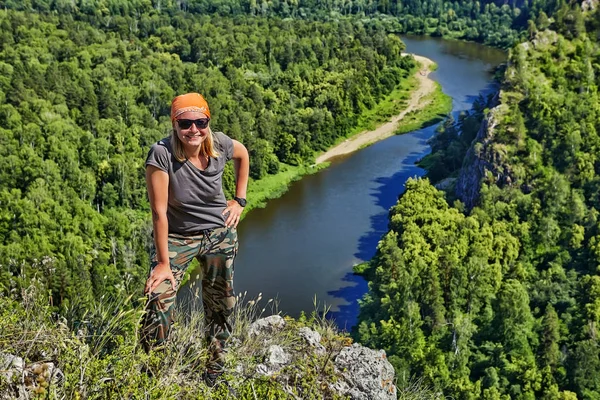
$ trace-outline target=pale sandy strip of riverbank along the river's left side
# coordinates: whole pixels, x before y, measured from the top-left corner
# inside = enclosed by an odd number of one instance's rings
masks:
[[[373,131],[361,132],[321,154],[319,157],[317,157],[317,164],[325,162],[336,156],[352,153],[365,145],[375,143],[392,136],[394,132],[396,132],[398,122],[400,122],[406,114],[411,111],[420,110],[428,105],[429,101],[427,101],[425,98],[435,90],[435,82],[429,77],[433,61],[431,61],[429,58],[418,56],[416,54],[413,54],[413,57],[421,64],[421,68],[415,74],[419,86],[411,94],[407,107],[400,114],[393,117],[391,121],[380,125],[377,127],[377,129]]]

